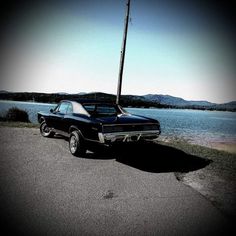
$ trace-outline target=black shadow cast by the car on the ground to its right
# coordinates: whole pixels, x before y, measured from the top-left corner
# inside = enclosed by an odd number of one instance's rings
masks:
[[[116,159],[122,164],[154,173],[190,172],[211,163],[211,160],[158,143],[122,144],[99,152],[87,152],[84,158]]]

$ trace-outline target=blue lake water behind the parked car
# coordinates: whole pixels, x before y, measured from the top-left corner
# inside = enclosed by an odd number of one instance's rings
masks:
[[[0,101],[0,114],[11,107],[26,110],[29,119],[37,123],[38,111],[49,111],[55,104]],[[184,139],[193,144],[219,147],[222,144],[236,147],[236,112],[199,111],[181,109],[126,108],[132,114],[158,119],[161,123],[160,139]]]

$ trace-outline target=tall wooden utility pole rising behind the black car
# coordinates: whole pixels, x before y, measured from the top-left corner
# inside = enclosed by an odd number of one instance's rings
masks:
[[[123,43],[122,43],[122,49],[121,49],[121,54],[120,54],[120,69],[119,69],[119,78],[118,78],[118,86],[117,86],[116,104],[120,103],[120,96],[121,96],[122,77],[123,77],[123,69],[124,69],[124,61],[125,61],[126,40],[127,40],[127,32],[128,32],[128,25],[129,25],[130,0],[127,0],[126,7],[127,7],[127,10],[126,10],[126,17],[125,17]]]

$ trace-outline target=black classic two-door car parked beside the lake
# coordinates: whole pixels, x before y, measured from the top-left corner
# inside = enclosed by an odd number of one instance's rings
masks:
[[[69,149],[75,156],[85,154],[91,146],[155,140],[161,133],[159,121],[98,101],[61,101],[50,113],[38,112],[38,121],[43,137],[55,133],[69,137]]]

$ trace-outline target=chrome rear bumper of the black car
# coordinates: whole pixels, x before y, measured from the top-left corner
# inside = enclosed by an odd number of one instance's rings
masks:
[[[135,142],[139,140],[155,140],[160,133],[160,130],[98,133],[98,137],[100,143]]]

